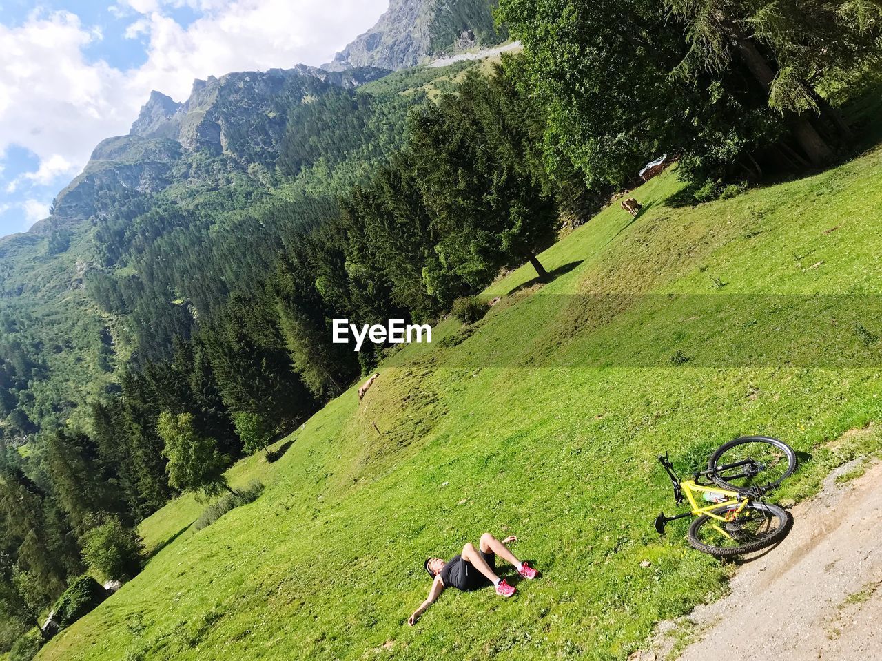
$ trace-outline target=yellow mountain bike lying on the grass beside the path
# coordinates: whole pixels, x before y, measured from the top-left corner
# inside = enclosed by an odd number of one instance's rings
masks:
[[[789,514],[762,500],[796,470],[796,452],[787,443],[768,436],[736,438],[714,452],[706,471],[694,472],[685,481],[677,477],[667,454],[659,462],[674,485],[676,504],[685,500],[690,507],[685,514],[657,516],[655,530],[660,535],[669,522],[695,516],[689,543],[720,558],[759,551],[787,535]],[[700,481],[708,478],[710,482]],[[697,494],[708,504],[699,504]]]

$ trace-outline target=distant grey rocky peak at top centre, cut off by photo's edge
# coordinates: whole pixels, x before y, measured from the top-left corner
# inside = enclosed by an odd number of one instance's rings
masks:
[[[403,69],[429,56],[505,41],[504,31],[494,26],[496,5],[497,0],[391,0],[377,25],[322,67]]]

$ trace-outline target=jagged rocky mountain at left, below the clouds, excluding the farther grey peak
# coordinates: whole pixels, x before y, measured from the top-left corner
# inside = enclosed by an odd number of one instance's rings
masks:
[[[329,85],[351,89],[386,73],[377,67],[325,71],[300,64],[196,80],[183,103],[153,91],[129,135],[103,140],[83,172],[58,194],[52,216],[31,232],[48,234],[92,218],[101,191],[156,193],[175,182],[205,183],[206,177],[222,177],[246,163],[272,168],[288,108]],[[194,166],[206,158],[221,160],[213,167]]]

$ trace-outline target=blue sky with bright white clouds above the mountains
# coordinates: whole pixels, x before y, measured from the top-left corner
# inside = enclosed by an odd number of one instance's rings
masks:
[[[330,61],[388,0],[0,0],[0,235],[45,218],[152,89]]]

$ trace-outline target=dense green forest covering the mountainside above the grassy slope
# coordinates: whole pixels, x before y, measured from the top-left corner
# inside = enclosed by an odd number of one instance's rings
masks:
[[[64,215],[69,195],[0,242],[0,649],[101,574],[102,549],[137,555],[138,521],[219,493],[236,457],[373,368],[384,347],[333,345],[334,317],[432,323],[506,267],[548,278],[536,256],[561,219],[662,152],[682,204],[848,156],[841,102],[882,28],[861,0],[502,0],[498,16],[519,56],[285,78],[251,119],[218,111],[221,152],[130,140],[125,167],[149,161],[162,186],[90,166],[87,217]]]

